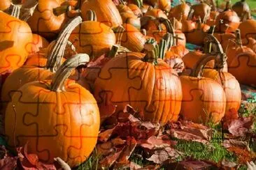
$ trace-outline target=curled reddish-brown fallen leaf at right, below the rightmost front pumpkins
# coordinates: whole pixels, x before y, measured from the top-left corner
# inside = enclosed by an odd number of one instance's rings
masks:
[[[247,118],[239,118],[236,120],[233,120],[228,125],[228,130],[231,134],[233,134],[235,137],[243,137],[246,135],[246,133],[251,132],[253,128],[253,117],[247,117]]]

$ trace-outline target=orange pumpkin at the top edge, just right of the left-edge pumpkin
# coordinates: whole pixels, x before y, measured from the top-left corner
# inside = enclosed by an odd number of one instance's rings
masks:
[[[60,6],[57,0],[38,0],[38,6],[33,15],[27,20],[33,33],[37,33],[45,38],[55,38],[67,20],[65,14],[56,16],[53,8]]]

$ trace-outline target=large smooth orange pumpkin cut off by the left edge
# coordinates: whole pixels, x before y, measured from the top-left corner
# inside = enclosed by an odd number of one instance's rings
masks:
[[[29,54],[32,33],[26,22],[0,11],[0,74],[20,68]]]

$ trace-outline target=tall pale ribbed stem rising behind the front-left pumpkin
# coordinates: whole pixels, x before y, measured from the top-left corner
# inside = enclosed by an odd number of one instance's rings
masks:
[[[72,33],[73,29],[76,28],[82,22],[82,18],[80,16],[74,17],[70,20],[64,29],[59,33],[59,36],[56,40],[55,46],[52,48],[48,56],[48,60],[46,63],[46,69],[55,72],[62,63],[62,57],[64,56],[64,51],[66,48],[66,44],[68,43],[69,36]]]

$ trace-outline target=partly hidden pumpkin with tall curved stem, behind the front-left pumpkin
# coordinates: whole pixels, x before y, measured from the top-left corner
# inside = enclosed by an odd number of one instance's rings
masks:
[[[24,84],[36,80],[48,79],[52,76],[52,72],[55,72],[62,63],[67,37],[69,37],[73,28],[80,22],[82,22],[81,17],[76,17],[71,20],[60,33],[55,47],[51,52],[49,52],[49,54],[45,52],[46,54],[38,53],[34,54],[34,56],[30,56],[32,61],[30,61],[29,64],[27,63],[27,65],[18,68],[8,76],[1,90],[1,100],[3,102],[9,102],[12,93],[17,91]],[[48,55],[48,58],[45,57],[46,55]],[[13,81],[18,81],[18,83],[13,84]]]

